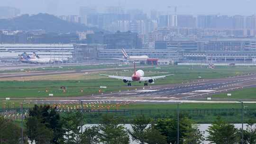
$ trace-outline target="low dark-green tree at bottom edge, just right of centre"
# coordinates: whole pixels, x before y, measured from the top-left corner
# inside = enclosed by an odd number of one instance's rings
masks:
[[[147,144],[166,144],[166,136],[161,135],[161,133],[155,129],[154,125],[146,129],[145,134],[145,142]]]

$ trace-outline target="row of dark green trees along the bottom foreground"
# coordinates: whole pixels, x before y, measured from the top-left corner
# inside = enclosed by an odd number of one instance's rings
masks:
[[[153,120],[138,116],[131,129],[112,115],[104,115],[99,125],[86,127],[83,118],[80,111],[60,115],[55,108],[35,105],[25,117],[23,143],[20,126],[0,117],[0,144],[203,144],[205,140],[210,144],[256,144],[254,120],[249,120],[242,131],[219,117],[204,137],[191,119],[180,115],[178,137],[177,117]]]

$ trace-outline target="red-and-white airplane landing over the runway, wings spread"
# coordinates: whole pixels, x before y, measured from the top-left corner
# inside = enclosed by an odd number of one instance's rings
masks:
[[[156,79],[165,78],[167,76],[173,76],[174,74],[162,75],[162,76],[144,77],[144,72],[142,70],[137,70],[136,71],[136,67],[135,67],[135,63],[134,63],[134,73],[133,73],[133,75],[131,77],[106,75],[106,74],[100,74],[100,75],[108,76],[109,78],[113,78],[113,79],[123,80],[123,82],[127,83],[128,86],[131,86],[131,82],[132,81],[138,81],[139,83],[144,81],[144,86],[147,86],[148,85],[147,82],[153,83]]]

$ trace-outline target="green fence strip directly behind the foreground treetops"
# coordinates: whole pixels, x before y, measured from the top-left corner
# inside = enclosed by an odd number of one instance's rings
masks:
[[[68,112],[81,112],[81,109],[57,109],[61,115]],[[27,116],[28,109],[23,109],[24,116]],[[153,120],[158,118],[176,117],[176,109],[123,109],[123,110],[82,110],[84,121],[89,124],[99,123],[103,115],[119,117],[123,123],[130,123],[135,117],[144,115]],[[197,123],[212,123],[217,117],[222,117],[230,123],[240,123],[242,110],[238,108],[230,109],[180,109],[179,113],[185,115]],[[21,119],[20,108],[0,109],[0,115],[13,120]],[[256,118],[256,109],[248,108],[244,110],[244,120]]]

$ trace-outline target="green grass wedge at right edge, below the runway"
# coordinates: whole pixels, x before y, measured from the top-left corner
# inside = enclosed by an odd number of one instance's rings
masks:
[[[213,98],[222,99],[256,99],[256,88],[245,88],[243,90],[236,90],[229,92],[231,96],[227,96],[227,93],[213,95]]]

